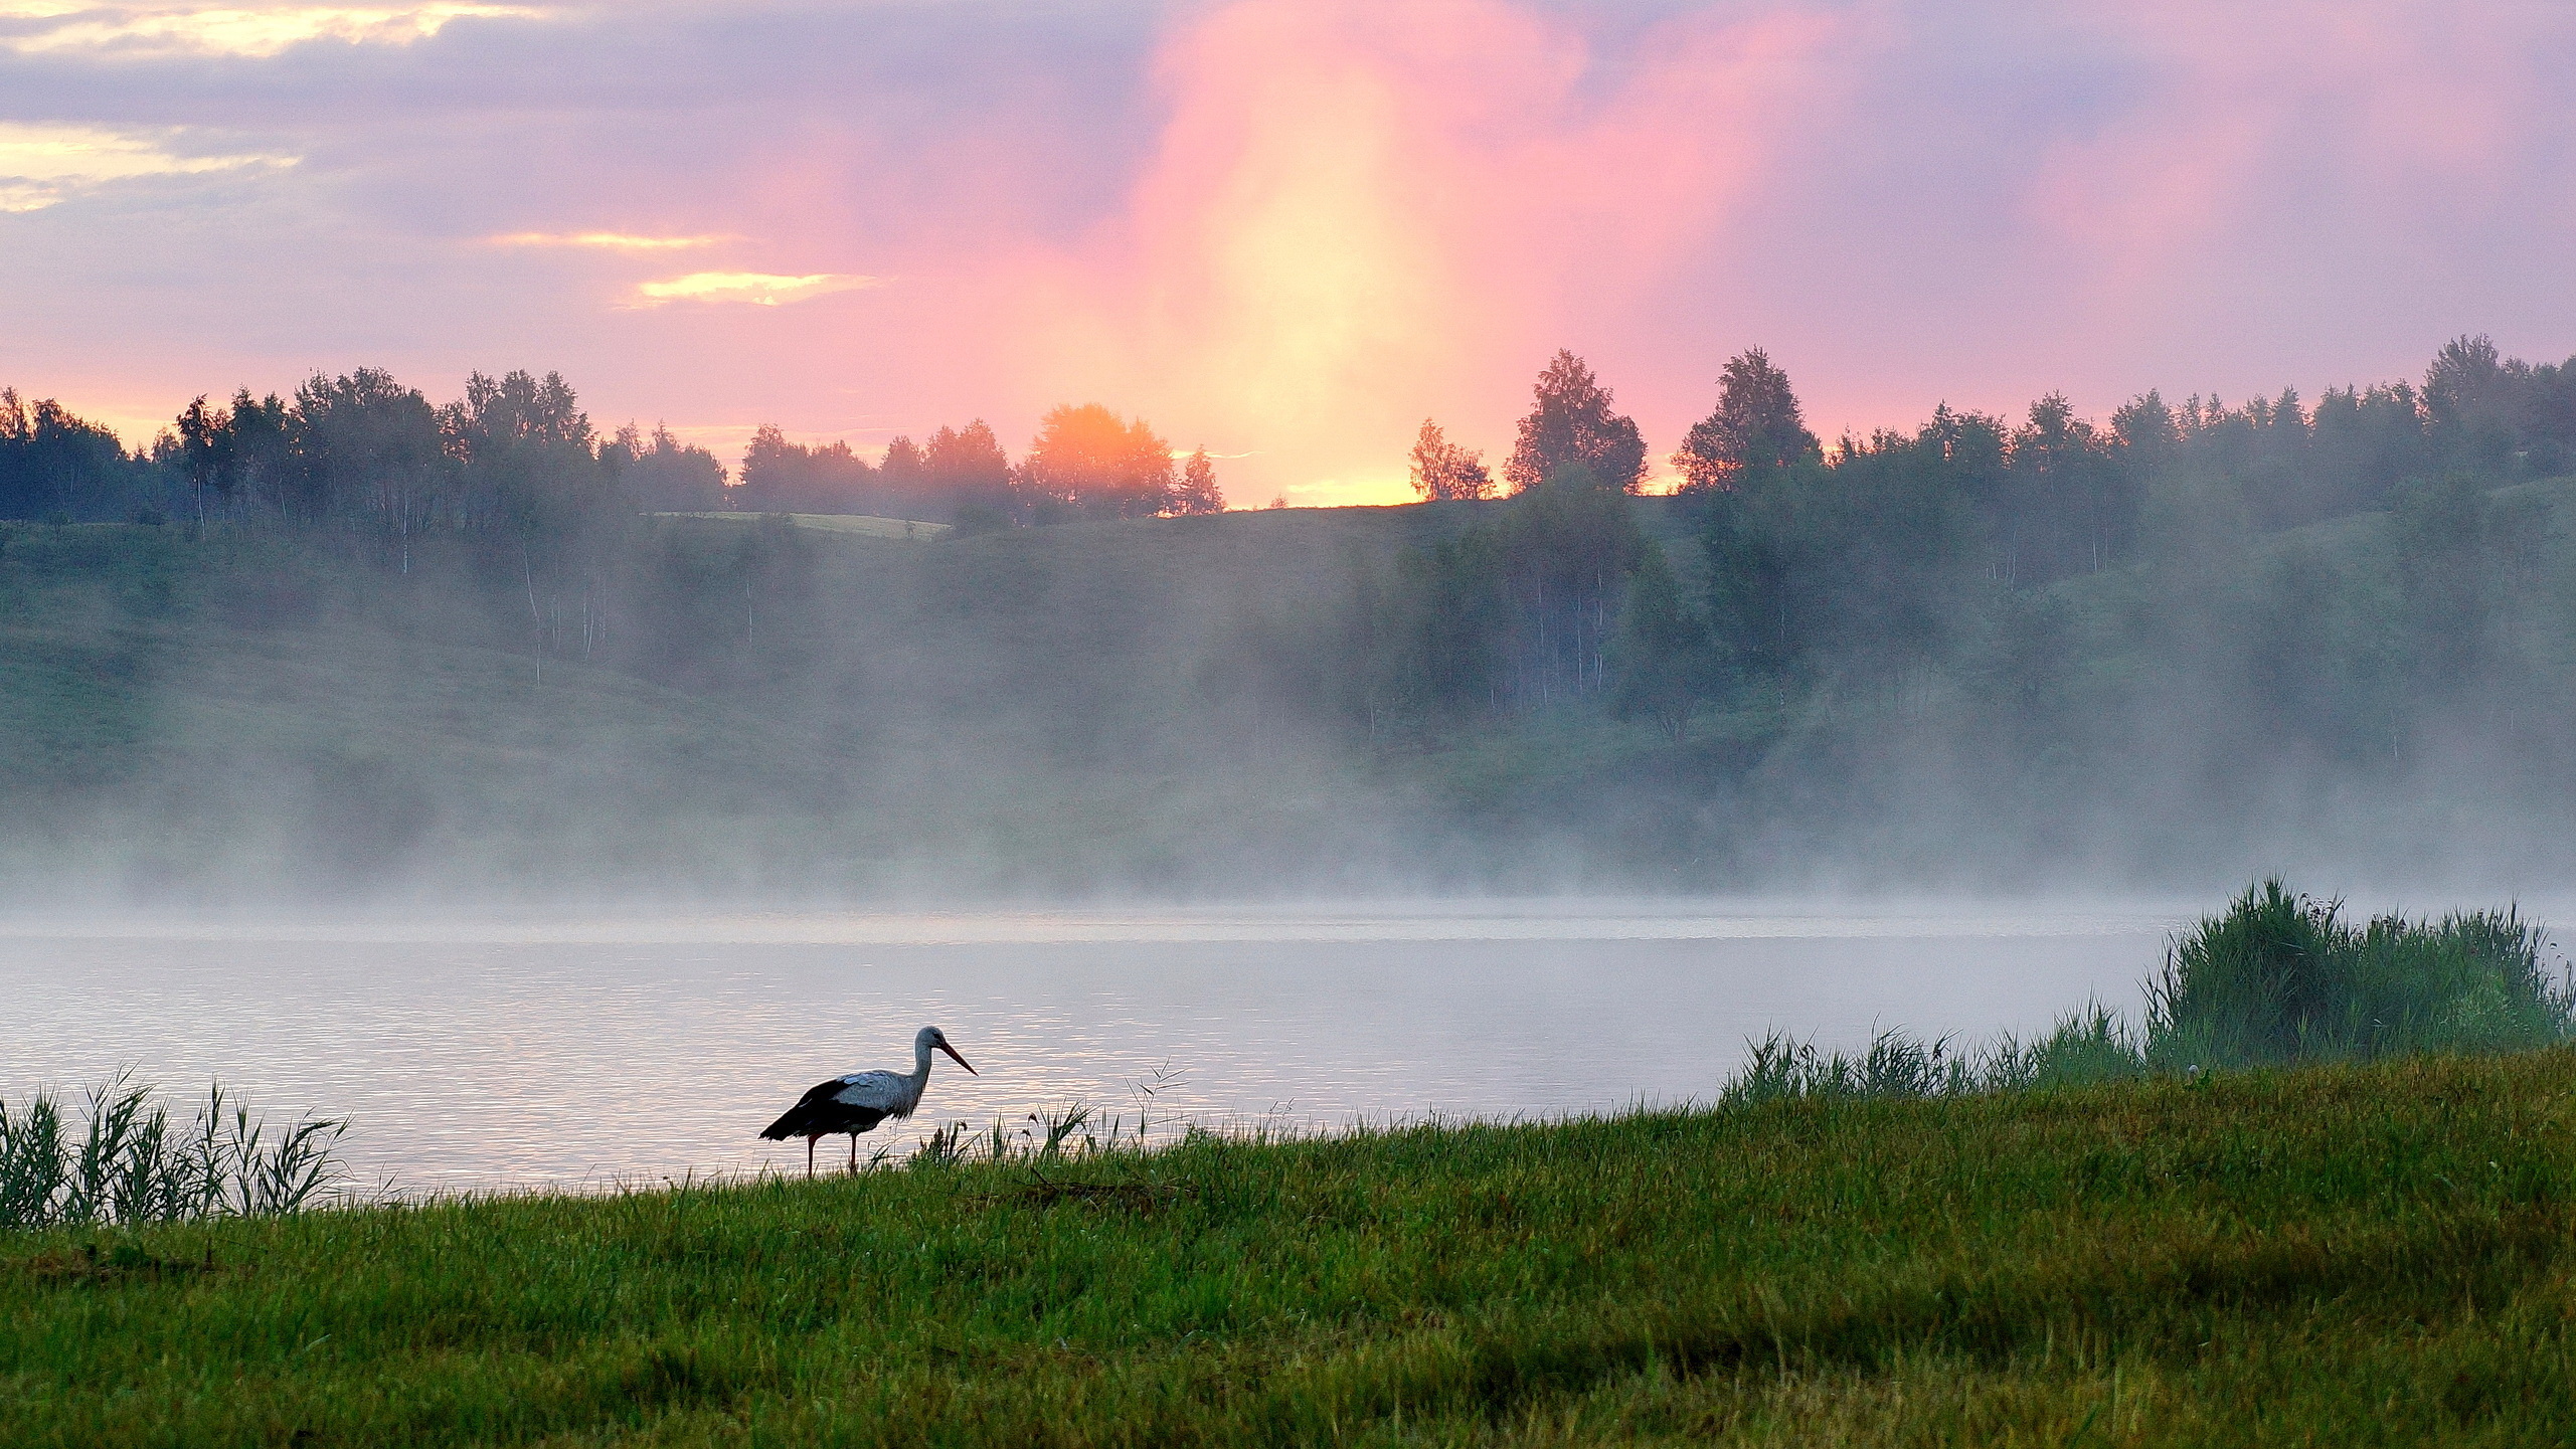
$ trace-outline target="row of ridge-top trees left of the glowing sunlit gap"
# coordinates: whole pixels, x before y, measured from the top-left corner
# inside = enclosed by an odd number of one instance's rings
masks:
[[[381,368],[312,376],[294,396],[198,396],[147,448],[52,399],[0,391],[0,517],[281,520],[368,538],[404,566],[422,535],[533,548],[631,512],[876,512],[992,528],[1224,510],[1206,450],[1177,458],[1100,404],[1048,412],[1020,461],[992,425],[848,443],[760,427],[739,471],[667,427],[592,427],[562,373],[474,373],[433,404]]]

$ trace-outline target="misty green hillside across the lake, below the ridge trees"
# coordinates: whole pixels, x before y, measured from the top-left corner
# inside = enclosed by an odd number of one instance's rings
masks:
[[[1422,692],[1440,569],[1522,546],[1512,520],[1540,515],[1517,502],[909,540],[639,517],[551,571],[464,540],[404,571],[325,530],[21,525],[0,891],[2555,872],[2576,867],[2553,808],[2576,790],[2571,502],[2568,479],[2460,484],[2290,530],[2174,525],[2040,587],[1816,566],[1850,587],[1798,607],[1844,633],[1785,664],[1721,651],[1680,736],[1615,708],[1615,597],[1582,690]],[[1685,602],[1710,597],[1698,504],[1620,507]]]

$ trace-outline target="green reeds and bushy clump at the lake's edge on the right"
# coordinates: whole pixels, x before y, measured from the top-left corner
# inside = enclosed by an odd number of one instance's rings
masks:
[[[2550,978],[2548,932],[2512,906],[2352,924],[2342,901],[2280,878],[2249,885],[2164,955],[2146,1029],[2092,1004],[2035,1040],[1955,1050],[1878,1032],[1860,1055],[1785,1032],[1749,1042],[1723,1102],[1958,1096],[2200,1068],[2509,1053],[2576,1037],[2576,981]]]

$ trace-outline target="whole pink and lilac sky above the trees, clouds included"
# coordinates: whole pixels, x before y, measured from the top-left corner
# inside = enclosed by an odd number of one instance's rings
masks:
[[[1056,401],[1236,504],[1502,453],[1574,347],[1656,453],[2576,353],[2555,3],[0,0],[0,383],[562,368],[734,456]],[[659,242],[659,245],[644,245]]]

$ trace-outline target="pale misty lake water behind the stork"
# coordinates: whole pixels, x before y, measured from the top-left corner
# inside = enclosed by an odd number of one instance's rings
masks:
[[[809,1084],[909,1068],[922,1114],[1329,1130],[1710,1099],[1747,1037],[1981,1042],[2138,1009],[2179,911],[1471,903],[1303,911],[744,914],[433,927],[0,929],[0,1094],[121,1066],[353,1120],[407,1189],[796,1166],[755,1132]],[[827,1150],[832,1145],[827,1143]]]

